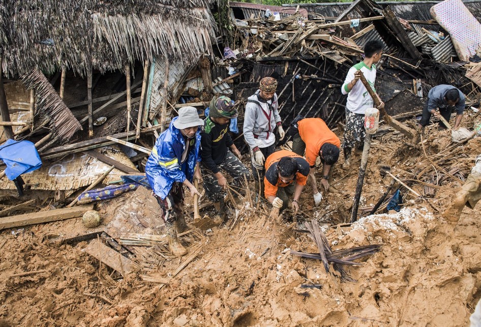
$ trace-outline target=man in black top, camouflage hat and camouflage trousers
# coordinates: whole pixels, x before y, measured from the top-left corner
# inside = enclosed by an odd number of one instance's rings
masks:
[[[244,176],[247,180],[250,179],[249,170],[239,160],[241,153],[228,133],[230,118],[235,117],[237,109],[234,108],[232,100],[225,96],[214,98],[200,133],[205,194],[215,203],[219,218],[223,220],[226,216],[224,206],[226,193],[223,190],[227,188],[227,180],[222,172],[227,172],[234,178],[232,184],[237,188],[245,181]]]

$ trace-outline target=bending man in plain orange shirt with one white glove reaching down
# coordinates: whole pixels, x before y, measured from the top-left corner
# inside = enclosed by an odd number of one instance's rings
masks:
[[[318,156],[321,157],[323,163],[321,184],[327,191],[329,190],[328,180],[331,167],[339,159],[341,141],[321,118],[301,119],[292,128],[294,129],[293,132],[297,132],[292,138],[292,151],[299,156],[304,155],[304,151],[306,151],[306,160],[311,167],[309,179],[311,180],[314,202],[319,205],[322,194],[317,190],[316,177],[314,176],[316,159]]]

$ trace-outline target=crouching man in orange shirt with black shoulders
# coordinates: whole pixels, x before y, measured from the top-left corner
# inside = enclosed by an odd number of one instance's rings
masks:
[[[294,194],[292,207],[294,215],[299,210],[300,193],[307,182],[309,164],[292,151],[281,150],[265,160],[264,196],[281,211],[286,209],[289,197]]]

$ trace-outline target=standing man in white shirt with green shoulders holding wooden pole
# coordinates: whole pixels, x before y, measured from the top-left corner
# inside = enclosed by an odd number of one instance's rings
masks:
[[[344,169],[350,166],[352,148],[356,146],[362,150],[364,146],[364,139],[366,138],[364,113],[367,108],[374,106],[373,99],[366,87],[359,81],[360,71],[363,72],[372,89],[376,92],[374,88],[376,64],[381,60],[382,47],[383,44],[380,41],[367,42],[364,46],[364,60],[349,69],[341,88],[342,94],[347,94],[346,127],[344,130],[344,141],[341,145],[344,150]],[[381,106],[384,106],[382,101]]]

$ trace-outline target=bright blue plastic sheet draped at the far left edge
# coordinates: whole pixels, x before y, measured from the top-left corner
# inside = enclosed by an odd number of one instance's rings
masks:
[[[39,153],[34,143],[30,141],[7,140],[4,145],[0,146],[0,159],[7,165],[5,174],[10,181],[42,166]]]

